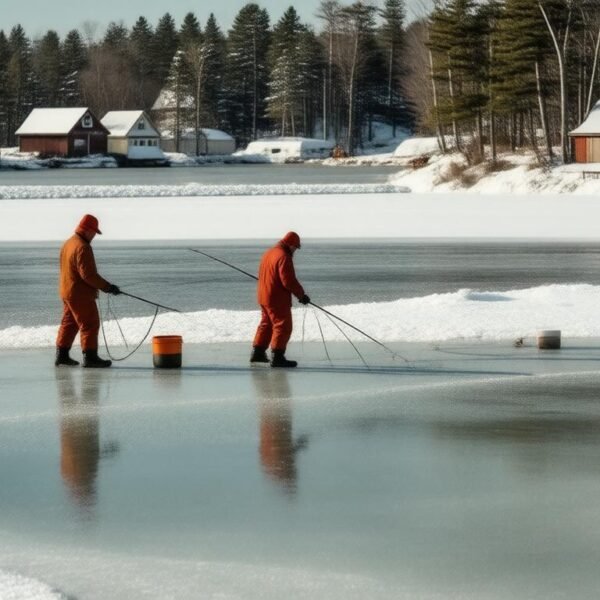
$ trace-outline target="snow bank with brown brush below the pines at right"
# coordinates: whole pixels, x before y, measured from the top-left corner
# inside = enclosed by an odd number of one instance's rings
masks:
[[[412,140],[408,140],[412,141]],[[475,194],[589,194],[600,192],[600,178],[583,178],[582,171],[600,172],[600,164],[557,165],[542,169],[531,154],[499,157],[499,170],[489,165],[467,168],[461,154],[432,156],[425,167],[404,169],[390,181],[412,192]]]

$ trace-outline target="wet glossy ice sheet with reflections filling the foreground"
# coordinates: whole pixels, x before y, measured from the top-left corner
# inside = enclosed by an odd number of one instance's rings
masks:
[[[600,345],[2,353],[0,568],[78,598],[589,598]]]

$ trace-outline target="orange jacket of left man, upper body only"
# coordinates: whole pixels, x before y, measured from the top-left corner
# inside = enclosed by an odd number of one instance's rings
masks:
[[[110,283],[98,275],[94,251],[79,235],[70,237],[60,250],[59,294],[63,300],[94,300]]]

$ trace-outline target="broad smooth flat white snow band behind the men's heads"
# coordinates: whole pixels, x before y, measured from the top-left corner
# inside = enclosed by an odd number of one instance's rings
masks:
[[[323,240],[600,237],[600,203],[582,194],[257,193],[0,200],[0,242],[64,240],[85,213],[100,219],[102,241],[278,239],[290,229]]]

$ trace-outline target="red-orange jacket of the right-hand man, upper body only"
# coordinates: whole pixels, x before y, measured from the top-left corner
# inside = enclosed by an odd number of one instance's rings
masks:
[[[292,305],[292,294],[300,299],[304,296],[304,289],[296,279],[288,247],[279,242],[267,250],[260,261],[258,303],[270,308],[289,308]]]

